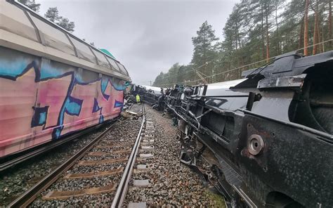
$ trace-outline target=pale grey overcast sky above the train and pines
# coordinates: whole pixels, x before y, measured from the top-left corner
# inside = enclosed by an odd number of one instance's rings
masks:
[[[75,22],[77,37],[106,48],[136,84],[150,84],[174,63],[188,64],[192,40],[207,20],[222,39],[223,26],[240,0],[36,0],[44,15],[58,7]]]

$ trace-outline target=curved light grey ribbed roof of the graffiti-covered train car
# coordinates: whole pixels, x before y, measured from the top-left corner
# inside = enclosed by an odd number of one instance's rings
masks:
[[[0,46],[129,81],[124,65],[17,1],[0,0]]]

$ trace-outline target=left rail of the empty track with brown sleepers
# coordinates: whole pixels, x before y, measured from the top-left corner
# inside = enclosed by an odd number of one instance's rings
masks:
[[[93,146],[98,141],[100,141],[100,139],[103,138],[103,136],[105,136],[105,134],[107,134],[107,132],[110,131],[110,129],[112,129],[112,126],[114,126],[115,124],[117,124],[117,122],[112,124],[105,131],[103,131],[103,133],[94,138],[93,141],[91,141],[88,145],[84,146],[84,148],[79,150],[79,152],[70,157],[70,159],[68,159],[66,162],[53,170],[50,174],[41,179],[41,181],[32,186],[32,188],[30,188],[25,193],[20,195],[20,197],[11,202],[8,207],[27,207],[31,202],[36,199],[39,193],[41,193],[43,190],[46,190],[46,188],[48,188],[49,186],[51,186],[52,183],[58,180],[61,174],[70,169],[77,162],[77,160],[80,160],[81,157],[84,157],[84,155],[86,155],[86,152],[91,150],[91,148],[93,148]]]

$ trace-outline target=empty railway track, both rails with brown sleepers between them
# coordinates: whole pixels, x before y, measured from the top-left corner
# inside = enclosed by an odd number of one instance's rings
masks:
[[[114,193],[114,200],[112,207],[121,207],[126,196],[126,191],[129,187],[129,181],[133,171],[133,165],[136,162],[136,156],[138,152],[141,152],[141,138],[145,135],[146,120],[145,120],[145,108],[142,105],[142,122],[141,127],[138,130],[136,138],[129,136],[129,138],[123,138],[120,136],[119,140],[112,140],[110,134],[112,134],[112,128],[119,122],[112,124],[102,134],[98,135],[84,148],[79,150],[75,155],[70,157],[66,162],[57,167],[50,174],[41,179],[32,188],[16,198],[8,207],[27,207],[34,200],[65,200],[71,197],[81,197],[84,195],[98,195],[102,193]],[[123,121],[123,122],[126,122]],[[151,124],[148,124],[151,129]],[[142,149],[142,148],[141,148]],[[147,155],[141,155],[143,157]],[[149,156],[149,155],[148,155]],[[144,159],[143,159],[144,160]],[[112,164],[111,169],[100,166]],[[126,166],[125,166],[126,165]],[[85,170],[89,167],[88,170]],[[89,171],[90,170],[90,171]],[[120,178],[119,176],[122,175]],[[105,186],[94,186],[89,188],[71,187],[69,190],[63,190],[61,183],[69,183],[68,181],[89,181],[101,178],[103,181],[110,181]],[[77,183],[78,184],[78,183]],[[80,187],[83,185],[80,185]],[[41,197],[40,197],[41,196]],[[38,206],[38,205],[37,205]]]

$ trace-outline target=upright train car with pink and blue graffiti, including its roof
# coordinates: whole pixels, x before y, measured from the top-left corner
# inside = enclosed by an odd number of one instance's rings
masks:
[[[120,114],[119,61],[15,1],[0,7],[0,157]]]

